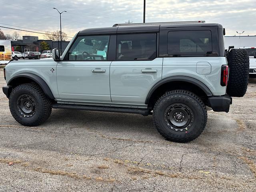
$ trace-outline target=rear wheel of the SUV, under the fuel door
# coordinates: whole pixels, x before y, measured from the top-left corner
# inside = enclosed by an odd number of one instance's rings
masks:
[[[189,142],[197,138],[207,122],[207,111],[202,100],[186,90],[166,92],[153,110],[153,121],[166,140]]]

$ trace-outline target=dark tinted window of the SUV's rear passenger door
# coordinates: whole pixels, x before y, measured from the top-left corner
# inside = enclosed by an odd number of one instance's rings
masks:
[[[117,35],[116,60],[156,58],[156,34]]]

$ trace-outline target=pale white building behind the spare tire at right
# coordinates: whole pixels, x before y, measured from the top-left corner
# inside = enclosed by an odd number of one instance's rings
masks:
[[[224,36],[225,49],[228,46],[238,47],[256,47],[256,36]]]

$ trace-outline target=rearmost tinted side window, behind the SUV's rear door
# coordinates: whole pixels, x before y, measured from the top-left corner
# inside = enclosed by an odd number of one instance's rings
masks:
[[[209,30],[168,32],[168,54],[212,54],[212,34]]]

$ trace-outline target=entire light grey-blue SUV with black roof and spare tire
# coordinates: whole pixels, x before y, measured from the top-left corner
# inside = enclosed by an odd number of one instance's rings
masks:
[[[4,69],[13,117],[36,126],[52,108],[153,115],[164,138],[188,142],[207,111],[229,111],[248,84],[243,49],[225,56],[220,24],[115,24],[78,32],[60,56],[11,61]]]

